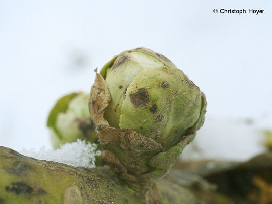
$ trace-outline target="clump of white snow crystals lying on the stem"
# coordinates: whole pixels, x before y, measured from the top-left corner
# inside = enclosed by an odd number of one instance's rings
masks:
[[[95,167],[95,156],[101,154],[96,144],[91,144],[78,139],[76,142],[66,143],[60,149],[46,150],[41,147],[39,151],[35,149],[22,149],[21,154],[40,160],[50,160],[76,167]]]

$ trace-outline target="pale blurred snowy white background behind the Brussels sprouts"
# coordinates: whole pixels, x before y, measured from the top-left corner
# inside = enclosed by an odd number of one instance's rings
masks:
[[[217,8],[264,9],[220,14]],[[51,148],[48,112],[90,91],[93,70],[144,46],[206,94],[206,121],[185,159],[246,160],[272,129],[271,1],[0,1],[0,145]]]

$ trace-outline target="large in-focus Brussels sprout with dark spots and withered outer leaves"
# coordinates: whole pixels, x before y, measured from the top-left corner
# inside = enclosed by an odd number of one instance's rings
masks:
[[[205,95],[165,56],[137,48],[96,74],[90,114],[102,157],[134,187],[163,176],[204,122]]]

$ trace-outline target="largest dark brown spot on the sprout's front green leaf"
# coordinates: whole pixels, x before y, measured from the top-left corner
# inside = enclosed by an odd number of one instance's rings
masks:
[[[129,96],[131,103],[135,108],[149,104],[149,94],[148,91],[144,88],[138,89],[137,92],[131,93]]]

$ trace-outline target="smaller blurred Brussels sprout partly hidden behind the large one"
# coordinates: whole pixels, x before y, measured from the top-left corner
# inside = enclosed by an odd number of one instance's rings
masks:
[[[72,93],[60,98],[51,110],[47,126],[54,149],[77,139],[97,142],[88,107],[89,94]]]

